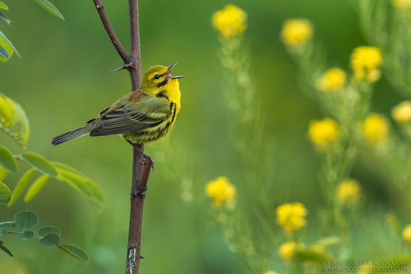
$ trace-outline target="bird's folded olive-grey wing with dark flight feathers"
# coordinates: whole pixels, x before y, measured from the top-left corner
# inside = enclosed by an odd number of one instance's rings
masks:
[[[103,112],[98,119],[100,125],[90,132],[90,136],[124,134],[148,129],[159,125],[170,115],[170,103],[165,98],[129,98],[119,107]]]

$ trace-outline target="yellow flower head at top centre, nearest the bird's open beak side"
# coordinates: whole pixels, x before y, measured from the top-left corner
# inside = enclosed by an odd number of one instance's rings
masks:
[[[211,21],[223,38],[229,39],[246,30],[247,13],[237,6],[227,5],[214,12]]]

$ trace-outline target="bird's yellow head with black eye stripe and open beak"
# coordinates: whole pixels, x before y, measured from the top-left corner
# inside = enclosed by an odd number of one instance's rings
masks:
[[[171,66],[156,65],[150,67],[144,74],[139,89],[151,93],[154,96],[167,96],[175,90],[179,90],[178,78],[184,76],[172,76],[171,69],[177,64],[174,62]],[[167,96],[168,97],[168,96]]]

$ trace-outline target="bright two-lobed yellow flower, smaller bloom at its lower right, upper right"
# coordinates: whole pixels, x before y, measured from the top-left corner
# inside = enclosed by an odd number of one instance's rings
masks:
[[[362,46],[354,49],[351,55],[351,67],[354,78],[358,81],[375,82],[380,79],[381,73],[377,68],[382,64],[381,49]]]

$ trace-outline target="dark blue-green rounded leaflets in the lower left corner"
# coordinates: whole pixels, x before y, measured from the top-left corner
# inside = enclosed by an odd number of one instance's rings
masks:
[[[39,216],[32,211],[22,210],[14,215],[14,222],[0,223],[0,236],[7,234],[16,234],[20,240],[39,240],[39,243],[46,247],[57,246],[64,252],[70,254],[72,257],[88,262],[87,253],[80,247],[60,244],[60,228],[53,226],[44,226],[39,229],[37,235],[31,229],[35,228],[39,224]],[[9,231],[7,229],[16,228],[20,231]],[[11,251],[4,246],[4,242],[0,241],[0,249],[13,256]]]

